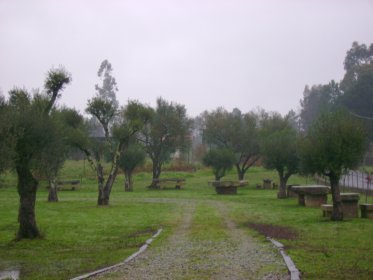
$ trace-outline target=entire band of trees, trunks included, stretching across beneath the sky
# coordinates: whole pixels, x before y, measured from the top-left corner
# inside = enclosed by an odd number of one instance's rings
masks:
[[[0,172],[12,169],[17,174],[17,237],[40,236],[35,218],[38,181],[48,179],[49,201],[57,201],[56,178],[69,149],[84,153],[96,174],[97,204],[108,205],[119,169],[125,172],[126,190],[131,190],[132,172],[146,154],[152,162],[153,179],[158,179],[172,154],[190,149],[193,128],[208,147],[203,159],[213,167],[216,180],[233,166],[238,180],[243,180],[261,159],[264,166],[278,172],[279,198],[283,198],[292,174],[326,175],[335,206],[332,218],[343,219],[339,177],[360,162],[368,134],[362,120],[373,118],[373,44],[367,47],[354,42],[344,68],[340,83],[306,87],[299,115],[291,111],[286,116],[218,108],[191,120],[185,106],[162,98],[156,108],[138,101],[121,106],[107,60],[98,70],[101,83],[95,85],[96,94],[87,102],[90,119],[56,105],[71,82],[71,75],[62,67],[47,73],[43,91],[14,88],[7,99],[0,96]],[[104,170],[103,161],[110,163],[109,170]]]

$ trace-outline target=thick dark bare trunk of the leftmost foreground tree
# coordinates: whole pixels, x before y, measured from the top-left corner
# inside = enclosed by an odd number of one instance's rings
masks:
[[[33,177],[27,163],[17,165],[16,170],[18,176],[17,189],[20,197],[17,239],[38,238],[41,236],[35,218],[38,181]]]

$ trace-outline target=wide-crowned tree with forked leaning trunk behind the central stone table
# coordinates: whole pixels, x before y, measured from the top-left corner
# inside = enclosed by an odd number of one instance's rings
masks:
[[[218,108],[203,114],[204,141],[227,148],[235,153],[235,167],[239,180],[244,180],[247,170],[259,159],[258,117],[254,113],[242,114],[234,109],[227,112]]]

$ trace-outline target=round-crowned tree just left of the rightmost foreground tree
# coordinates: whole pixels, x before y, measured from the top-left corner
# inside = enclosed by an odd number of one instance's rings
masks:
[[[266,168],[275,169],[280,179],[278,198],[286,198],[286,183],[298,172],[298,133],[288,116],[273,114],[262,120],[261,154]]]

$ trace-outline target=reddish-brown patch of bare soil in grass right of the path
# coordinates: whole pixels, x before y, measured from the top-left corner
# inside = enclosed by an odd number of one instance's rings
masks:
[[[259,223],[248,223],[248,226],[263,234],[264,236],[274,239],[294,240],[298,237],[298,233],[294,229],[289,227]]]

